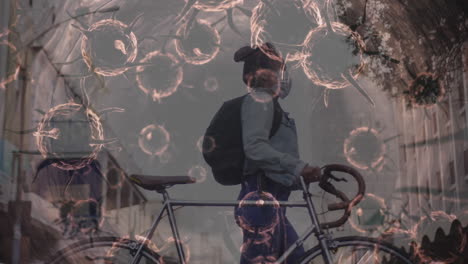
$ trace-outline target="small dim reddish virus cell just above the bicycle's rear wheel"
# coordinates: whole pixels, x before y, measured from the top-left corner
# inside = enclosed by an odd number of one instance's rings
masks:
[[[73,205],[69,217],[74,230],[83,234],[93,233],[101,225],[101,207],[96,200],[80,200]]]

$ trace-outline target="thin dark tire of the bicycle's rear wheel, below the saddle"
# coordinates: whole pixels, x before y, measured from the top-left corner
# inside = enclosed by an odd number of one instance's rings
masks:
[[[54,254],[54,256],[52,256],[48,261],[46,261],[46,263],[88,263],[94,258],[97,260],[102,259],[104,261],[103,263],[123,264],[128,263],[129,259],[131,260],[133,258],[140,245],[141,243],[139,242],[119,237],[95,237],[83,239],[59,250],[57,253]],[[99,252],[101,255],[90,256],[84,253],[84,251],[90,249]],[[112,252],[109,254],[110,251]],[[117,260],[116,252],[118,252],[118,257],[120,258],[120,260]],[[103,253],[105,253],[105,255],[102,255]],[[124,253],[126,255],[121,256],[121,253]],[[161,257],[156,252],[148,248],[146,245],[143,247],[143,250],[140,254],[142,256],[140,261],[141,264],[168,263],[167,261],[162,261]],[[126,257],[125,260],[122,260],[122,257]]]

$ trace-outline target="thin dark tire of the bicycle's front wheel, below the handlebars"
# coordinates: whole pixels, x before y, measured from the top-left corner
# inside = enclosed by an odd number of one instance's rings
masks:
[[[367,238],[367,237],[356,237],[356,236],[351,236],[351,237],[340,237],[333,239],[333,241],[336,244],[336,250],[332,251],[330,250],[331,255],[335,258],[333,260],[333,264],[356,264],[356,263],[372,263],[372,264],[377,264],[377,263],[383,263],[383,264],[414,264],[410,260],[410,258],[407,256],[407,254],[396,248],[395,246],[391,245],[390,243],[387,243],[385,241],[379,241],[374,238]],[[368,252],[372,252],[372,257],[374,258],[373,261],[370,262],[362,262],[364,255],[361,256],[356,256],[354,254],[352,255],[347,255],[345,257],[348,257],[349,260],[344,262],[342,259],[342,256],[337,256],[340,252],[343,253],[343,248],[351,248],[351,249],[359,249],[359,250],[366,250]],[[346,253],[346,250],[344,250]],[[377,253],[386,253],[387,257],[382,258],[382,259],[377,259],[375,260]],[[369,256],[369,255],[368,255]],[[353,261],[352,259],[349,258],[357,258],[359,261]],[[319,263],[325,263],[323,258],[322,258],[322,248],[320,246],[315,246],[314,248],[308,250],[303,257],[299,260],[299,264],[319,264]]]

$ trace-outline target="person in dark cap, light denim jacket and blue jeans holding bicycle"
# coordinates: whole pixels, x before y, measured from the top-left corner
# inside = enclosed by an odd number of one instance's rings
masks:
[[[318,181],[320,168],[299,158],[295,121],[278,104],[278,98],[286,98],[291,89],[285,63],[270,43],[256,48],[243,47],[235,53],[234,61],[244,62],[243,81],[250,90],[241,106],[246,158],[238,200],[265,193],[272,200],[287,201],[291,191],[302,189],[299,177],[304,177],[307,184]],[[269,138],[275,107],[282,112],[281,124]],[[298,235],[286,217],[286,208],[274,212],[271,208],[236,206],[236,221],[243,229],[241,264],[274,262],[297,240]],[[246,223],[254,228],[246,227]],[[272,226],[271,230],[263,229],[263,232],[262,226],[268,225]],[[286,263],[296,263],[303,254],[302,246],[296,248]]]

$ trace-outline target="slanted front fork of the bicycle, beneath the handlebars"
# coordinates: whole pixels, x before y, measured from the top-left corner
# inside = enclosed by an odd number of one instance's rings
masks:
[[[333,257],[330,253],[329,248],[329,238],[325,235],[323,230],[320,228],[320,223],[318,221],[317,212],[315,206],[312,202],[311,194],[304,182],[304,178],[300,177],[301,185],[303,189],[304,200],[307,203],[307,210],[309,211],[310,219],[312,224],[315,227],[315,236],[319,242],[320,247],[322,248],[322,257],[325,261],[325,264],[333,264]]]

